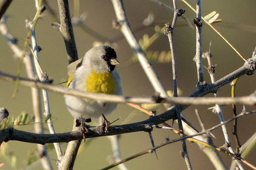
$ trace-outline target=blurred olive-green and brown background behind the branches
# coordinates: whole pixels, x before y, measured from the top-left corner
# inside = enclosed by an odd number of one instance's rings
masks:
[[[74,2],[70,2],[71,15],[74,15]],[[163,1],[172,6],[172,1]],[[195,7],[195,1],[188,0],[188,2]],[[58,14],[57,1],[49,1],[51,7]],[[148,16],[149,12],[154,14],[156,22],[159,22],[159,26],[164,26],[165,22],[171,22],[173,12],[169,11],[149,0],[125,0],[125,10],[127,13],[128,21],[132,28],[135,28],[142,24],[143,20]],[[185,8],[185,15],[192,22],[195,17],[195,13],[189,9],[181,1],[177,1],[178,9]],[[256,3],[255,0],[232,1],[232,0],[215,0],[215,1],[202,1],[202,15],[205,16],[212,11],[219,13],[219,18],[223,21],[221,23],[214,24],[213,26],[219,30],[220,33],[244,56],[248,59],[252,56],[252,51],[256,45]],[[25,28],[25,19],[34,18],[36,13],[35,3],[32,0],[16,0],[13,1],[9,9],[8,26],[11,33],[18,38],[19,45],[23,48],[24,39],[28,32]],[[87,18],[85,24],[100,33],[104,37],[113,38],[121,35],[119,30],[112,28],[112,20],[116,19],[115,13],[111,4],[111,1],[96,0],[96,1],[80,1],[80,14],[85,13]],[[54,79],[54,84],[58,84],[67,80],[68,65],[65,45],[62,39],[61,33],[57,31],[51,23],[53,23],[48,11],[43,13],[42,19],[39,19],[36,25],[37,43],[43,49],[39,53],[40,65],[43,72],[46,72],[49,78]],[[194,26],[194,24],[193,24]],[[209,49],[209,43],[211,41],[211,53],[213,55],[213,64],[217,64],[216,67],[216,79],[222,78],[228,73],[236,70],[244,64],[244,61],[225,43],[209,26],[203,24],[203,40],[202,49],[206,52]],[[78,26],[74,26],[75,39],[78,49],[79,57],[82,57],[84,53],[92,48],[93,43],[98,41],[90,34],[84,32]],[[136,32],[137,39],[141,39],[144,34],[152,36],[154,33],[154,27],[148,27]],[[183,25],[183,19],[178,18],[177,26],[174,30],[175,40],[175,52],[177,57],[177,71],[178,71],[178,87],[181,89],[181,96],[188,96],[195,90],[197,83],[196,67],[193,61],[195,55],[195,28],[190,28]],[[3,36],[0,36],[0,70],[16,74],[18,70],[19,60],[14,59],[13,52],[7,45]],[[120,72],[122,78],[122,86],[124,95],[137,96],[137,95],[152,95],[154,90],[148,81],[145,73],[140,67],[139,63],[132,63],[130,65],[123,65],[133,55],[133,50],[129,47],[126,40],[123,38],[120,41],[111,45],[117,52],[120,66],[117,66],[117,70]],[[148,49],[153,51],[168,51],[169,42],[166,35],[161,34],[157,41]],[[171,63],[157,63],[153,62],[153,67],[158,72],[161,81],[163,82],[166,90],[172,90],[172,73]],[[204,65],[207,62],[204,61]],[[210,83],[209,75],[206,69],[205,81]],[[22,76],[26,76],[25,68],[22,67]],[[243,76],[239,79],[237,85],[237,96],[249,95],[255,90],[255,75]],[[0,79],[0,107],[6,107],[10,113],[10,116],[17,116],[21,112],[25,111],[29,114],[32,113],[31,92],[29,87],[19,85],[19,92],[15,99],[12,99],[14,92],[14,83],[5,82]],[[226,85],[219,90],[219,96],[231,96],[231,86]],[[212,97],[212,94],[207,95]],[[55,118],[54,128],[57,133],[68,132],[72,129],[73,118],[69,114],[65,107],[63,95],[49,92],[50,108],[52,116]],[[194,109],[198,108],[199,114],[202,117],[205,128],[211,128],[219,123],[217,115],[212,114],[211,110],[207,110],[212,106],[190,106],[183,111],[186,118],[191,121],[198,129],[200,125],[196,119]],[[240,113],[242,106],[237,106],[237,112]],[[254,110],[255,107],[246,107],[247,111]],[[132,113],[132,114],[131,114]],[[161,112],[158,112],[160,114]],[[232,117],[232,107],[224,106],[223,114],[225,119]],[[137,122],[145,120],[148,115],[139,113],[135,109],[125,105],[119,104],[118,108],[107,119],[112,122],[115,119],[122,116],[122,119],[115,124],[121,124],[122,122]],[[240,141],[243,144],[254,132],[255,132],[255,118],[256,115],[247,115],[238,120],[238,134]],[[171,121],[169,121],[171,124]],[[47,128],[47,126],[45,125]],[[175,128],[178,128],[177,124],[174,124]],[[33,125],[26,125],[17,127],[17,129],[27,130],[33,132]],[[232,144],[235,147],[234,137],[232,135],[233,125],[227,124],[228,133],[232,140]],[[47,130],[46,130],[47,132]],[[156,145],[162,143],[166,137],[170,139],[177,138],[178,135],[169,130],[153,130],[153,138]],[[220,128],[212,132],[217,139],[213,139],[213,142],[217,146],[224,144],[224,137]],[[17,141],[9,141],[8,152],[15,155],[17,158],[17,169],[26,167],[28,152],[34,151],[36,144],[28,144]],[[62,144],[62,150],[65,151],[67,144]],[[190,144],[187,142],[188,153],[191,159],[191,163],[194,169],[214,169],[208,158],[201,152],[196,144]],[[106,159],[111,155],[111,144],[106,137],[95,138],[90,143],[82,143],[81,152],[79,152],[75,161],[74,169],[101,169],[109,165]],[[136,132],[124,134],[120,139],[120,150],[122,158],[127,158],[138,152],[142,152],[151,148],[150,139],[148,133]],[[186,169],[184,159],[180,156],[181,143],[166,145],[157,150],[158,160],[154,154],[147,154],[139,158],[130,160],[125,164],[129,169]],[[256,165],[255,148],[250,155],[246,158],[250,163]],[[49,155],[52,159],[54,169],[56,166],[56,154],[54,151],[50,151]],[[232,158],[223,153],[220,155],[225,160],[227,166],[231,164]],[[7,159],[0,157],[0,162],[4,162],[5,165],[2,169],[12,169],[8,164]],[[249,169],[244,166],[245,169]],[[36,164],[32,169],[42,169],[40,162]],[[113,168],[118,169],[118,168]]]

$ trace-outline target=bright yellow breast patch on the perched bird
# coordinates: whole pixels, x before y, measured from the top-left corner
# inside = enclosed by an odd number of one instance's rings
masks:
[[[101,73],[93,70],[85,82],[84,89],[87,92],[113,94],[116,87],[112,72]]]

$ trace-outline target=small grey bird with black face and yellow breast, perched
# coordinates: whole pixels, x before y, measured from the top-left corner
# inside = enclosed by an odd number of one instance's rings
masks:
[[[113,48],[107,45],[93,47],[85,53],[83,58],[68,65],[67,87],[86,92],[122,95],[121,78],[116,70],[118,64],[120,63]],[[66,94],[64,98],[66,107],[77,119],[76,126],[81,127],[84,138],[85,130],[87,132],[88,130],[84,127],[83,120],[91,122],[91,118],[102,115],[105,127],[108,127],[109,122],[104,115],[111,114],[117,107],[117,103],[106,103]]]

